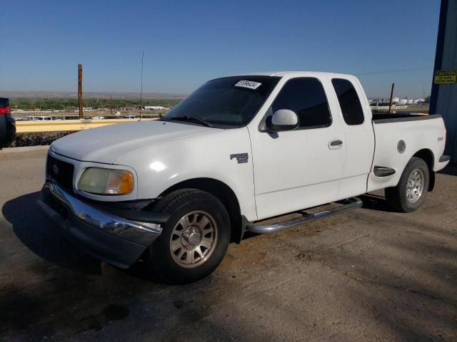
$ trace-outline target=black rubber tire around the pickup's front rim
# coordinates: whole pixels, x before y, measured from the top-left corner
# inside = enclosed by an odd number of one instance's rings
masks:
[[[219,266],[229,247],[231,227],[229,213],[224,207],[224,204],[222,204],[217,197],[214,197],[208,192],[196,189],[176,190],[164,196],[164,198],[154,206],[153,211],[164,212],[171,215],[169,221],[162,227],[160,236],[144,254],[144,261],[146,261],[162,281],[169,284],[191,283],[208,276],[217,266]],[[198,264],[198,266],[191,265],[192,268],[186,268],[189,267],[189,265],[183,266],[186,260],[176,260],[178,259],[176,254],[179,254],[181,249],[176,251],[175,257],[172,256],[171,239],[172,234],[173,237],[176,237],[175,227],[181,227],[179,225],[181,218],[196,211],[205,212],[206,214],[209,214],[208,217],[213,219],[213,221],[211,221],[213,222],[211,227],[214,227],[214,232],[216,232],[213,233],[216,234],[216,244],[214,247],[208,249],[208,251],[211,252],[209,257],[200,258],[199,262],[201,262],[201,264]],[[183,229],[183,231],[185,231],[185,229]],[[211,233],[209,234],[211,236]],[[184,236],[182,232],[181,235]],[[201,236],[203,237],[203,235]],[[181,242],[182,239],[184,238],[180,237],[179,242]],[[193,248],[190,244],[188,247]],[[188,251],[185,247],[180,248],[184,249],[185,254],[183,257],[186,259]],[[204,248],[205,247],[200,247],[199,251],[202,252]],[[194,254],[194,252],[191,253]],[[199,254],[194,255],[199,258]],[[183,264],[181,264],[181,262]]]

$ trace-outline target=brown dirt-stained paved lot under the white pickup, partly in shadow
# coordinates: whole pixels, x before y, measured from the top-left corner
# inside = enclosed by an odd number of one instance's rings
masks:
[[[45,155],[0,152],[0,341],[457,341],[456,167],[417,212],[364,195],[168,286],[59,236],[34,203]]]

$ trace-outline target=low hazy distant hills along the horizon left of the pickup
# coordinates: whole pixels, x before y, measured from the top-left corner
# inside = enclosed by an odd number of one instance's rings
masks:
[[[83,93],[84,98],[139,98],[139,93],[107,93],[87,91]],[[143,98],[185,98],[185,94],[173,93],[143,93]],[[0,98],[77,98],[76,91],[15,91],[0,90]]]

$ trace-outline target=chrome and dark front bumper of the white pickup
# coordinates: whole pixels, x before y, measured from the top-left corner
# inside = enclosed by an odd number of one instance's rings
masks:
[[[83,202],[51,180],[44,184],[38,204],[76,247],[121,268],[128,268],[139,259],[159,237],[161,224],[168,219],[164,214],[137,210],[127,210],[131,212],[124,215],[128,219],[119,217]]]

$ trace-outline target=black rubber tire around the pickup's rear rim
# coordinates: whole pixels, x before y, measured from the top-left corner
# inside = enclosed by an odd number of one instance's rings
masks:
[[[407,187],[408,187],[408,178],[412,172],[418,170],[423,175],[423,189],[421,195],[415,202],[408,199],[407,197]],[[412,157],[411,160],[406,164],[405,170],[401,174],[400,180],[396,187],[387,187],[385,190],[386,201],[389,207],[397,210],[398,212],[413,212],[414,210],[421,207],[423,202],[426,199],[428,192],[428,184],[430,182],[430,172],[428,171],[428,166],[421,158]]]

